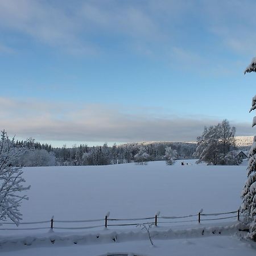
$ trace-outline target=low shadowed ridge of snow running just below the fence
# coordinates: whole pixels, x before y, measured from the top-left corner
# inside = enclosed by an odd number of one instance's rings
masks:
[[[155,227],[150,231],[154,240],[172,240],[183,238],[196,238],[196,237],[208,237],[208,236],[229,236],[239,230],[246,229],[247,226],[242,222],[233,222],[228,225],[201,225],[196,228],[188,229],[168,229],[157,230]],[[148,240],[147,232],[142,230],[138,232],[134,231],[112,231],[104,230],[104,232],[52,232],[50,230],[47,233],[34,234],[30,236],[9,236],[0,237],[0,246],[3,247],[17,247],[17,246],[47,246],[56,243],[57,245],[69,245],[69,244],[102,244],[113,242],[127,242],[127,241],[142,241]]]

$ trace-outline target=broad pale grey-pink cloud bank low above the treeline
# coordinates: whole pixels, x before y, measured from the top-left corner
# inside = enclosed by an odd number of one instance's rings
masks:
[[[64,102],[0,98],[1,129],[18,137],[44,141],[195,141],[204,126],[221,120],[137,113],[111,105],[77,108]],[[232,124],[235,125],[235,124]],[[241,132],[240,132],[241,131]],[[251,135],[249,124],[239,124],[238,135]]]

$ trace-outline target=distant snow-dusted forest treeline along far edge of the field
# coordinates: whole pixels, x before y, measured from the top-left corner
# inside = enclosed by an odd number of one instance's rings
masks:
[[[16,146],[22,143],[17,141]],[[31,140],[26,145],[30,150],[19,159],[22,166],[102,166],[164,160],[167,147],[177,151],[177,159],[191,159],[196,150],[194,143],[179,142],[127,143],[111,147],[107,143],[93,147],[80,144],[79,147],[54,148],[51,144]]]

